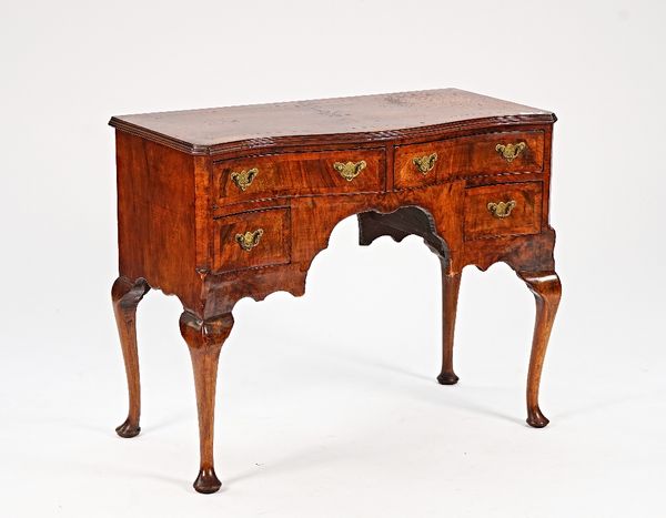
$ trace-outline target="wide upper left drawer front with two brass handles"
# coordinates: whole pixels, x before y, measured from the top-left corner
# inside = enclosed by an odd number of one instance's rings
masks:
[[[384,151],[377,149],[283,153],[219,162],[213,189],[218,205],[264,197],[380,192]]]

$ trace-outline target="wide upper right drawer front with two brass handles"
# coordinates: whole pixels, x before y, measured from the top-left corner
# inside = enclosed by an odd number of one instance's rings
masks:
[[[396,148],[394,185],[405,189],[453,176],[539,172],[543,166],[543,131],[484,133]]]

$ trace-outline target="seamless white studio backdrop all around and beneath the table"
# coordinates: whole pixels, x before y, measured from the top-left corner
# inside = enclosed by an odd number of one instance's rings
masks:
[[[3,2],[0,516],[663,516],[665,19],[658,0]],[[117,437],[109,118],[445,87],[559,118],[551,425],[524,424],[534,302],[509,268],[465,271],[442,387],[435,256],[361,248],[349,219],[304,297],[236,306],[224,490],[191,488],[191,366],[159,292],[139,309],[143,431]]]

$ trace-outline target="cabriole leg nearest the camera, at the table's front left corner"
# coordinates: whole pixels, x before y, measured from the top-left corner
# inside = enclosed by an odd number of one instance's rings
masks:
[[[222,483],[215,475],[213,461],[213,424],[215,417],[215,385],[218,359],[222,344],[231,333],[231,314],[202,321],[189,312],[180,318],[180,329],[192,357],[196,408],[199,410],[199,444],[201,463],[194,489],[199,492],[215,492]]]

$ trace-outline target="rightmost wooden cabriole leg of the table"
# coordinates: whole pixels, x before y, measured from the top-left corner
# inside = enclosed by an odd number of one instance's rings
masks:
[[[518,272],[518,276],[525,281],[536,299],[536,321],[527,374],[527,424],[543,428],[548,419],[538,407],[538,387],[551,329],[559,305],[562,284],[555,272]]]

